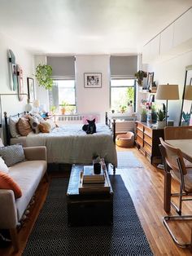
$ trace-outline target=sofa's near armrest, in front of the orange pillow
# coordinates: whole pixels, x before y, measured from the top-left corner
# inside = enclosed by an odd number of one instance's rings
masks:
[[[15,228],[18,220],[15,196],[12,190],[0,189],[0,205],[0,228]]]

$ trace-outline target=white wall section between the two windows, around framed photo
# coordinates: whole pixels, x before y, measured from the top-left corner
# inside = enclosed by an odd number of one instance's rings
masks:
[[[102,73],[102,88],[85,88],[84,73]],[[100,113],[110,108],[110,55],[76,55],[78,113]]]

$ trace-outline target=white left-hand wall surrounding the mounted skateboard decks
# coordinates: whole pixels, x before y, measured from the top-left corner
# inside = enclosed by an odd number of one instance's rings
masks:
[[[9,67],[7,50],[11,49],[15,54],[16,64],[20,64],[23,68],[24,75],[24,93],[28,93],[27,89],[27,77],[33,77],[33,55],[31,55],[27,50],[20,46],[17,42],[13,41],[11,38],[0,33],[0,93],[17,93],[17,91],[12,91],[10,87],[10,77],[9,77]],[[34,77],[33,77],[34,78]],[[18,96],[2,95],[2,113],[7,112],[8,115],[20,113],[24,111],[24,107],[27,103],[27,96],[24,95],[24,100],[19,101]],[[3,118],[3,115],[2,115]]]

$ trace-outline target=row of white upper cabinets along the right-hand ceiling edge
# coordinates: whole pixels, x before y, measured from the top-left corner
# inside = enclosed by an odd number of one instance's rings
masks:
[[[168,60],[172,56],[191,50],[192,8],[143,47],[142,62],[149,64],[154,61]]]

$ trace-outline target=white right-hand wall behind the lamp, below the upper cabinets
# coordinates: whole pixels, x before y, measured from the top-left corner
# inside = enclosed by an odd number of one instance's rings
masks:
[[[192,64],[192,51],[183,55],[178,55],[171,60],[159,64],[150,64],[149,72],[154,72],[154,80],[159,84],[178,84],[180,90],[180,100],[168,101],[169,119],[178,125],[181,115],[181,98],[185,82],[185,67]],[[164,101],[159,101],[165,103]]]

